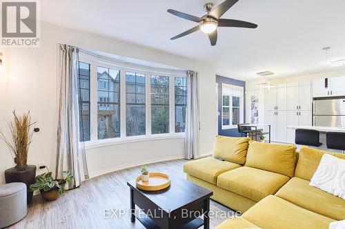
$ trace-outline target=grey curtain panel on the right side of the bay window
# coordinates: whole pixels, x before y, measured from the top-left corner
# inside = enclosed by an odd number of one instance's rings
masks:
[[[186,138],[184,142],[184,153],[186,159],[197,159],[200,157],[198,73],[187,71],[187,83]]]

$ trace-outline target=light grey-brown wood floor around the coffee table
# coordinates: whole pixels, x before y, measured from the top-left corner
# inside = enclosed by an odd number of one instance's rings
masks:
[[[182,170],[186,160],[172,160],[150,164],[150,171],[168,173],[170,177],[186,175]],[[139,167],[128,168],[101,175],[84,182],[80,188],[68,190],[60,199],[53,202],[43,201],[41,195],[34,196],[28,208],[28,215],[10,228],[144,228],[139,221],[130,222],[130,197],[127,181],[135,179]],[[111,210],[110,210],[111,209]],[[105,210],[124,209],[126,214],[120,218],[105,217]],[[210,228],[215,228],[226,218],[224,214],[233,215],[233,210],[210,202],[210,210],[219,217],[210,219]],[[117,212],[117,215],[119,212]]]

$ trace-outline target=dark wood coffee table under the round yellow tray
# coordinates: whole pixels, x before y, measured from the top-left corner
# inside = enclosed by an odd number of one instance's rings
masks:
[[[130,221],[137,218],[145,228],[195,229],[210,227],[208,212],[213,192],[186,179],[170,177],[171,185],[164,190],[144,191],[137,188],[135,180],[130,186]],[[141,213],[135,211],[135,205]],[[203,217],[204,219],[201,219]]]

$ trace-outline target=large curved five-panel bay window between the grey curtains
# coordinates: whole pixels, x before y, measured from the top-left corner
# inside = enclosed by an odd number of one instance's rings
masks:
[[[90,144],[108,144],[186,129],[186,72],[128,65],[81,54],[79,96]],[[103,142],[103,143],[102,143]]]

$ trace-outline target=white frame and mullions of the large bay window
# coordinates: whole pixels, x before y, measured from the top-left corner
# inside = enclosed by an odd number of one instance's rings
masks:
[[[79,52],[79,61],[90,64],[90,140],[84,142],[86,148],[94,148],[111,144],[123,144],[150,139],[184,138],[185,133],[175,133],[175,77],[187,78],[186,71],[159,69],[120,61],[110,60],[101,56]],[[97,138],[97,66],[118,69],[120,71],[120,137],[98,140]],[[126,136],[126,72],[144,74],[146,100],[146,135]],[[151,76],[169,77],[169,133],[151,133]]]

